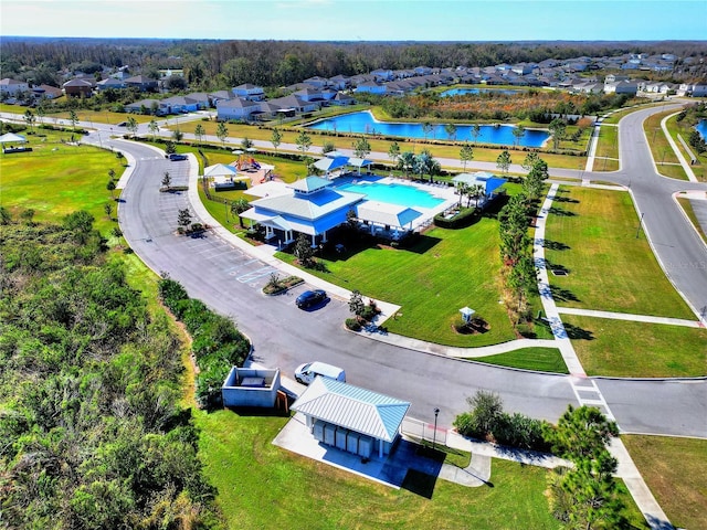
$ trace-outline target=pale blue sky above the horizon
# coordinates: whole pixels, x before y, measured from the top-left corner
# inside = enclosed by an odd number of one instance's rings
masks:
[[[1,0],[0,32],[336,41],[707,40],[707,0]]]

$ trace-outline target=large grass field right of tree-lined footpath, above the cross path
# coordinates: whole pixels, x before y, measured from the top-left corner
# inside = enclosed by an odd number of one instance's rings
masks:
[[[546,258],[558,306],[694,319],[661,269],[631,195],[561,187],[548,215]]]

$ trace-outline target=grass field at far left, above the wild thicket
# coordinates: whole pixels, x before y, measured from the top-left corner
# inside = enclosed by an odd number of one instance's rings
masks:
[[[40,129],[41,130],[41,129]],[[106,189],[108,170],[116,179],[124,169],[115,153],[91,146],[70,146],[71,132],[42,131],[28,135],[31,152],[2,155],[2,205],[13,215],[33,209],[35,221],[61,222],[64,215],[85,210],[95,218],[94,226],[104,236],[114,220],[108,220],[104,206],[113,205],[116,216],[117,202]],[[117,198],[119,191],[114,192]]]

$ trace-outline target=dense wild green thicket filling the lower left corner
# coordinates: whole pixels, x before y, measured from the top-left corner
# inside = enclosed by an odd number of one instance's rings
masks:
[[[0,486],[8,528],[212,528],[182,347],[93,218],[0,226]]]

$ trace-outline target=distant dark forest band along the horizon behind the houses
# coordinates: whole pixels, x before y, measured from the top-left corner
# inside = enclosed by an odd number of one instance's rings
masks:
[[[93,73],[101,65],[129,65],[131,71],[148,76],[155,76],[159,68],[183,68],[192,89],[205,91],[242,83],[287,86],[313,76],[351,76],[377,68],[483,67],[635,52],[701,57],[704,46],[689,41],[397,43],[3,38],[0,68],[3,76],[54,85],[62,68]],[[704,77],[700,64],[696,61],[690,66],[697,68],[689,72],[692,77]]]

